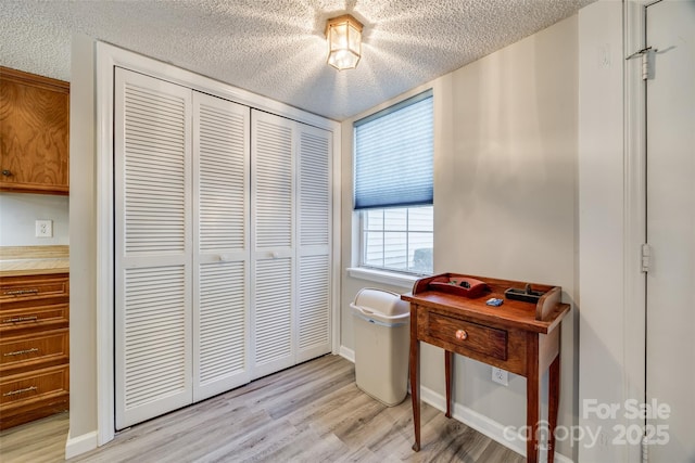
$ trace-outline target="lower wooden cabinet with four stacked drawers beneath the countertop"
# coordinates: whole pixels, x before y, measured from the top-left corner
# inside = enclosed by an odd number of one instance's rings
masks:
[[[68,274],[0,278],[0,429],[70,408]]]

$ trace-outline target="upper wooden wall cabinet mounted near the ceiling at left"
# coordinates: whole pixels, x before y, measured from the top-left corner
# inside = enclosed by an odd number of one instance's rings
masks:
[[[0,66],[0,191],[68,193],[70,83]]]

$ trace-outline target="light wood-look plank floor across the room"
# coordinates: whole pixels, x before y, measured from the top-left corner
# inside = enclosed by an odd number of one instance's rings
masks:
[[[0,460],[64,460],[67,414],[0,433]],[[414,452],[409,398],[384,407],[355,385],[354,365],[326,356],[118,433],[71,462],[523,462],[422,404]]]

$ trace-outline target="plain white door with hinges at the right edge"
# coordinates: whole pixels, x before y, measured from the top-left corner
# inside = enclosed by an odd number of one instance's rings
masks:
[[[695,1],[647,7],[647,424],[649,461],[695,461]],[[667,426],[667,427],[664,427]],[[659,445],[668,434],[668,443]]]

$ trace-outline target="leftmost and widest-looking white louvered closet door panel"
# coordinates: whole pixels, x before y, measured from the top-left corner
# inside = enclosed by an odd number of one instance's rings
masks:
[[[122,429],[192,401],[191,91],[116,68],[114,99]]]

